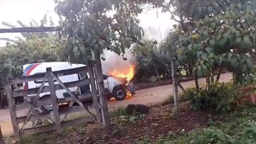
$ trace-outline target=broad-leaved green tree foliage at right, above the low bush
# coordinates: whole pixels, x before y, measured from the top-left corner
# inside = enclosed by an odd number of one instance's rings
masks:
[[[195,20],[188,32],[180,33],[181,59],[194,60],[194,71],[207,77],[214,67],[225,67],[236,74],[236,82],[251,81],[255,48],[255,9],[228,9]],[[218,81],[218,79],[217,79]]]

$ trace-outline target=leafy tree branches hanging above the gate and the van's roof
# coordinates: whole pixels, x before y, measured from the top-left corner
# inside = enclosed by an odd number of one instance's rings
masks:
[[[73,62],[85,62],[95,48],[124,53],[144,35],[138,26],[141,10],[136,1],[57,1],[56,12],[65,18],[60,34],[67,41],[66,53]]]

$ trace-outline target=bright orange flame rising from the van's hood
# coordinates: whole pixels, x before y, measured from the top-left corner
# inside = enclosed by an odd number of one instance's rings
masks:
[[[127,82],[131,81],[134,75],[135,75],[135,65],[131,65],[129,69],[125,69],[124,71],[121,71],[119,69],[114,69],[114,71],[110,72],[110,76],[117,79],[126,79]]]

